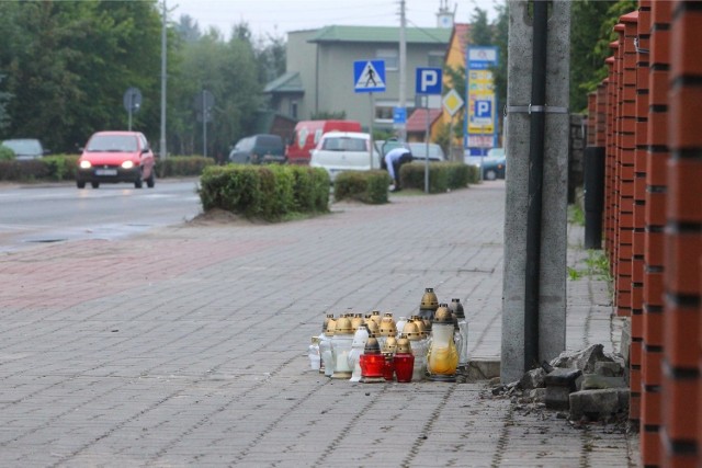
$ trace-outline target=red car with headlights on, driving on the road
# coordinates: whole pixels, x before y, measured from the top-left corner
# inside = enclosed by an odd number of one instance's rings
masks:
[[[78,159],[76,185],[84,189],[90,182],[93,189],[101,183],[155,184],[154,152],[146,137],[139,132],[98,132],[88,140]]]

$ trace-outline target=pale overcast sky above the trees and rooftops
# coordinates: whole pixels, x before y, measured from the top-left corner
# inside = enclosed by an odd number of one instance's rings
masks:
[[[314,30],[322,26],[399,25],[399,0],[166,0],[169,19],[178,21],[182,14],[192,16],[201,31],[218,28],[225,37],[235,24],[247,22],[257,37],[284,36],[290,31]],[[406,0],[407,24],[415,27],[435,27],[441,0]],[[456,8],[455,21],[467,23],[476,7],[495,18],[492,0],[449,0]],[[457,5],[457,7],[456,7]]]

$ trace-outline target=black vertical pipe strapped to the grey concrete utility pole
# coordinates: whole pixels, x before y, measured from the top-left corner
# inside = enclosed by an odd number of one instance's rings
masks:
[[[524,292],[524,370],[540,363],[539,293],[541,289],[541,213],[544,169],[546,105],[546,30],[548,2],[535,0],[531,77],[531,126],[529,145],[529,201],[526,210],[526,267]]]

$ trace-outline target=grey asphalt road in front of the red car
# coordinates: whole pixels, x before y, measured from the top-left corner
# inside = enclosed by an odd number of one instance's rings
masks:
[[[158,180],[155,189],[0,185],[0,252],[38,242],[117,239],[180,224],[202,210],[196,184],[196,179],[184,179]]]

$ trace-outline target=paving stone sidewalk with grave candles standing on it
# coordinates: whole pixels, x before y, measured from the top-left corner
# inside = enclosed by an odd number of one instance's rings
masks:
[[[324,315],[457,297],[499,358],[503,181],[314,219],[203,218],[0,255],[0,465],[629,467],[635,437],[494,398],[487,383],[310,370]],[[581,228],[568,264],[585,269]],[[570,350],[616,352],[607,284],[568,282]]]

